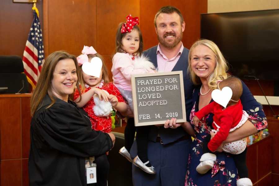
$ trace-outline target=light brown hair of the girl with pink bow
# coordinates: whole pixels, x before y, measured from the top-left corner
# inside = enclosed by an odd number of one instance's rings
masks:
[[[109,77],[108,77],[108,69],[106,67],[104,58],[102,55],[96,53],[96,54],[88,54],[88,60],[90,61],[93,57],[99,57],[102,60],[102,79],[104,80],[104,86],[106,86],[106,84],[109,82]],[[83,94],[86,87],[85,87],[85,82],[82,78],[82,65],[78,67],[78,72],[79,72],[79,76],[78,79],[80,79],[80,85],[81,85],[81,93]],[[80,94],[81,95],[81,94]]]

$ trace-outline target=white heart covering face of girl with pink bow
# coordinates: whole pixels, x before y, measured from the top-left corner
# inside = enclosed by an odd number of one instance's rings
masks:
[[[102,65],[102,60],[99,57],[93,57],[90,63],[85,62],[82,64],[82,71],[90,76],[100,78]]]

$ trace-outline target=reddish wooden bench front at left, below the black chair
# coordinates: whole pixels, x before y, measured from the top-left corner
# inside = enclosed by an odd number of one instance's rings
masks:
[[[0,95],[0,185],[28,186],[31,94]]]

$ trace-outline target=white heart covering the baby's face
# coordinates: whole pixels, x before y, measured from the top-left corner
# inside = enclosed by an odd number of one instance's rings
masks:
[[[216,103],[226,108],[228,102],[232,98],[232,89],[228,86],[223,87],[222,91],[220,91],[219,89],[215,89],[214,91],[212,91],[211,97]]]

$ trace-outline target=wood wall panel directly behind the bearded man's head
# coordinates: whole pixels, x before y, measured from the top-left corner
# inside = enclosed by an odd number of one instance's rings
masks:
[[[184,47],[189,49],[193,42],[200,38],[200,14],[207,13],[207,0],[140,0],[140,28],[144,38],[144,48],[148,49],[158,44],[154,16],[161,7],[167,5],[177,7],[181,11],[186,23],[182,42]]]

